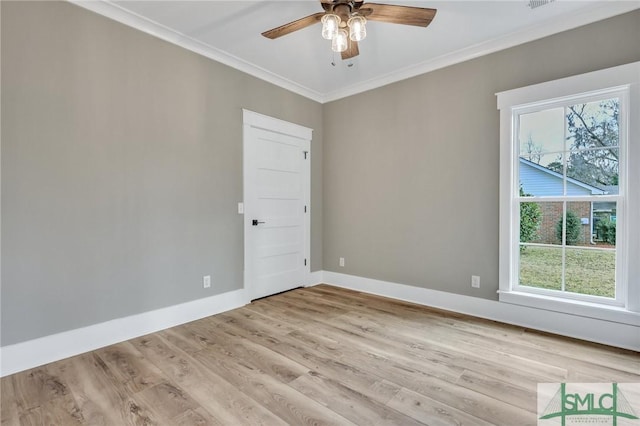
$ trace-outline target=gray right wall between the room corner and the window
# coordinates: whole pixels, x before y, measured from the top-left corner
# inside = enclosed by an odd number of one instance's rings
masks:
[[[495,93],[638,60],[634,11],[326,104],[324,269],[497,299]]]

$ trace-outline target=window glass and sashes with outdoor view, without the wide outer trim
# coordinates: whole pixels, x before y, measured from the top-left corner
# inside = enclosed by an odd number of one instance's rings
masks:
[[[628,90],[615,89],[512,108],[519,184],[514,289],[623,304],[618,221],[611,218],[626,198],[619,182],[627,97]],[[595,211],[604,205],[609,213]]]

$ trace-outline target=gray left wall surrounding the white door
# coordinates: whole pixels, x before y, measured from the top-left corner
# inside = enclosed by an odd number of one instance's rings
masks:
[[[241,288],[242,108],[314,129],[322,268],[322,105],[69,3],[1,7],[3,346]]]

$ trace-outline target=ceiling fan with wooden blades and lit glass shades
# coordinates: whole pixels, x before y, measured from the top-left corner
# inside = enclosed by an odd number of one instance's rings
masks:
[[[436,15],[436,9],[425,7],[353,0],[320,0],[320,3],[324,12],[289,22],[262,35],[275,39],[322,22],[322,37],[331,40],[331,48],[334,52],[340,52],[342,59],[349,59],[360,53],[358,42],[367,35],[367,20],[426,27]]]

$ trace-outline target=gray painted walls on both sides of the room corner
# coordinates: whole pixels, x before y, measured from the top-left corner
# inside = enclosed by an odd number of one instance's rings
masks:
[[[495,92],[640,60],[636,11],[322,106],[68,3],[0,5],[3,346],[241,288],[241,108],[314,129],[312,270],[495,299]]]

